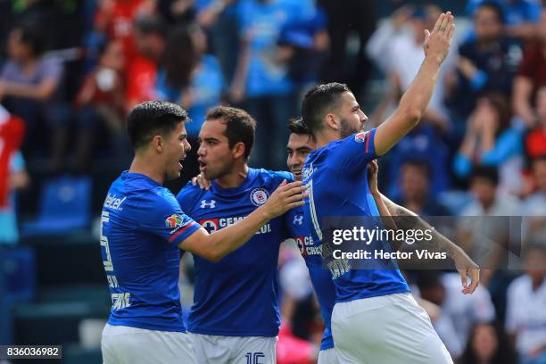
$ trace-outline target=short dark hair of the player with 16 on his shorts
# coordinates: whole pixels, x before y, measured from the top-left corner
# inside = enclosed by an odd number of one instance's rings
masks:
[[[226,125],[229,147],[243,143],[244,157],[250,156],[256,135],[256,120],[248,112],[235,107],[217,106],[207,112],[205,120],[221,120]]]

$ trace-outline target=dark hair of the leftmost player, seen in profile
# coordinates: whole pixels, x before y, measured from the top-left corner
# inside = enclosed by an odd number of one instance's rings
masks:
[[[176,103],[146,101],[136,105],[129,113],[128,136],[136,150],[150,143],[153,136],[168,136],[179,122],[187,120],[186,110]]]

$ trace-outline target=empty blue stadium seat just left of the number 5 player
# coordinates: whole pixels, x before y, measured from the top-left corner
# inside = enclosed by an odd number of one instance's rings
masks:
[[[68,175],[45,182],[36,221],[23,224],[23,236],[55,235],[88,227],[91,222],[91,178]]]

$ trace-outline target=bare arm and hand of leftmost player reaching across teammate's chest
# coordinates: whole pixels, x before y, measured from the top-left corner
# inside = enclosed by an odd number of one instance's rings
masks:
[[[303,191],[305,191],[305,186],[302,186],[302,182],[289,184],[283,182],[271,194],[267,203],[252,211],[243,220],[229,227],[221,228],[212,234],[202,227],[178,244],[178,247],[209,261],[219,261],[246,243],[270,219],[276,218],[294,207],[302,206],[302,200],[306,197]]]

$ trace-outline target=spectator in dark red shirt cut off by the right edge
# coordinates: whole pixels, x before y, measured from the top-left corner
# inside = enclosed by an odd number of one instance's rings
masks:
[[[527,45],[523,62],[514,80],[514,112],[534,128],[538,121],[533,112],[533,100],[540,87],[546,84],[546,8],[542,7],[541,22],[537,26],[536,43]]]

